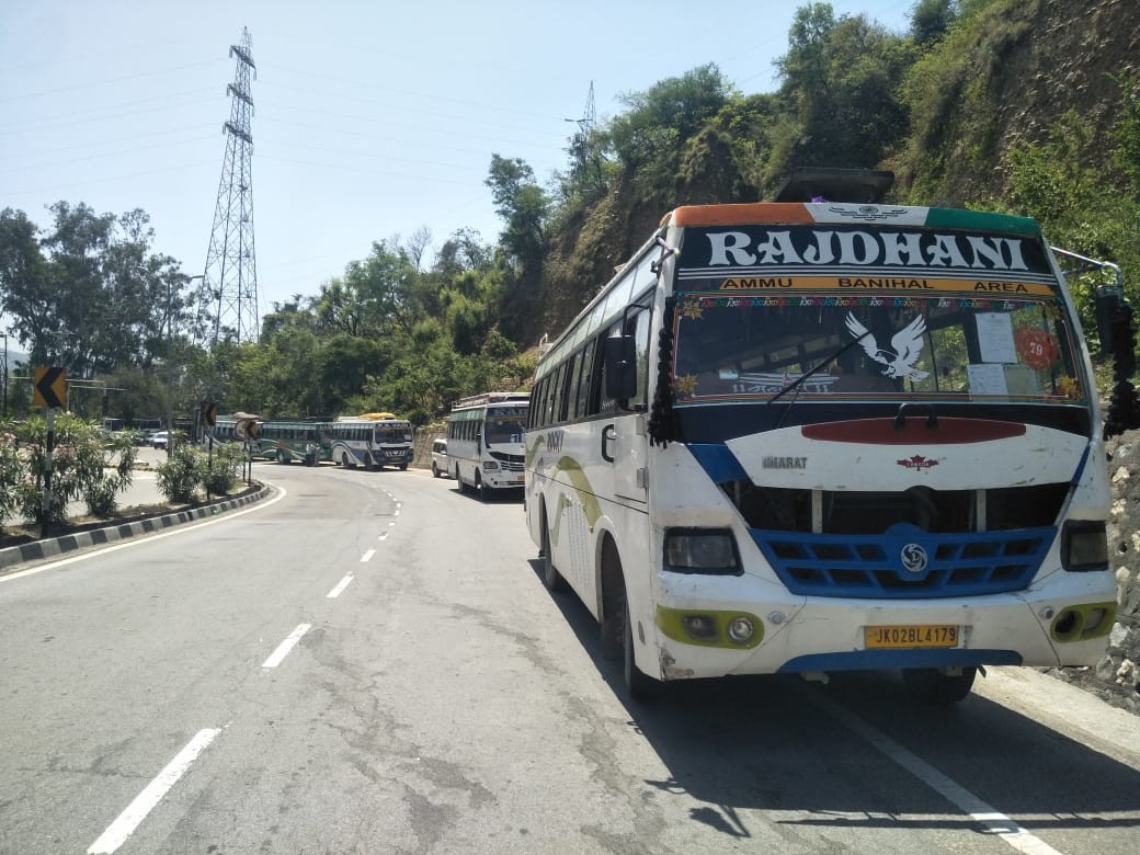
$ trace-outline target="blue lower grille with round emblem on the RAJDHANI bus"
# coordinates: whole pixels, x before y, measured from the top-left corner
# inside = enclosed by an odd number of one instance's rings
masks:
[[[793,594],[886,600],[1023,591],[1057,536],[1053,527],[930,534],[909,523],[881,535],[750,532]]]

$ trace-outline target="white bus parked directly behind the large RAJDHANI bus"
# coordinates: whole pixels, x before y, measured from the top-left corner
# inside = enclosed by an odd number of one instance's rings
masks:
[[[459,489],[487,500],[522,487],[528,392],[484,392],[461,398],[447,417],[447,457]]]

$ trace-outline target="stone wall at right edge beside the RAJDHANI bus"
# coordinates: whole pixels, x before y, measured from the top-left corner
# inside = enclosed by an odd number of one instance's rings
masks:
[[[1113,483],[1108,553],[1118,584],[1116,625],[1108,652],[1096,668],[1065,668],[1056,675],[1140,715],[1140,431],[1114,437],[1107,447]]]

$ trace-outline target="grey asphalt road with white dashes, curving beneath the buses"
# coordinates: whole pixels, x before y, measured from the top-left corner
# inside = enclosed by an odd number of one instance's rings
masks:
[[[275,498],[0,577],[0,853],[1133,853],[1137,719],[1034,671],[629,701],[521,505]]]

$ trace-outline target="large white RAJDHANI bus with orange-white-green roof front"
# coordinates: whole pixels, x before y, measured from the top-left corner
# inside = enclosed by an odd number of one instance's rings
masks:
[[[530,535],[633,697],[898,669],[951,703],[1105,652],[1101,416],[1056,255],[880,178],[669,212],[538,364]]]

